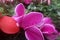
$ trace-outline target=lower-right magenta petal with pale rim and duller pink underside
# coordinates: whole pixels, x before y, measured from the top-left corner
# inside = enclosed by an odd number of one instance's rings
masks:
[[[55,29],[55,27],[51,24],[45,24],[41,31],[43,32],[44,36],[48,39],[48,40],[55,40],[57,38],[57,30]]]

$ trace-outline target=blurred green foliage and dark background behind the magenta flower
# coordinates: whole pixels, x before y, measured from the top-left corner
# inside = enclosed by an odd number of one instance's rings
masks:
[[[44,16],[51,17],[55,27],[60,31],[60,0],[51,0],[50,4],[46,1],[33,0],[30,4],[26,4],[24,0],[0,0],[0,12],[3,15],[12,16],[14,8],[17,4],[23,3],[26,13],[31,11],[42,12]],[[26,40],[24,30],[14,35],[7,35],[0,31],[0,40]],[[58,37],[56,40],[60,40]]]

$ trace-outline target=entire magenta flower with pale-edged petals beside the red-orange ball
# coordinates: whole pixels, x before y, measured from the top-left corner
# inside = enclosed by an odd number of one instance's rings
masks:
[[[57,31],[49,17],[44,17],[40,12],[30,12],[25,14],[25,7],[22,3],[15,8],[13,18],[20,27],[25,30],[27,40],[55,40]]]

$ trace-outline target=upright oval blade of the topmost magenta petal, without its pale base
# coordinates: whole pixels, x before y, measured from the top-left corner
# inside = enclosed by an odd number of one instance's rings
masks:
[[[15,8],[15,13],[17,16],[24,15],[25,13],[25,7],[22,3],[18,4]]]

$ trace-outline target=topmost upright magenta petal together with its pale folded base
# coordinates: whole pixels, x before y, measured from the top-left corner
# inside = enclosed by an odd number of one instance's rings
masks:
[[[17,22],[21,22],[24,12],[25,12],[25,7],[22,3],[20,3],[16,6],[15,15],[13,15],[12,18],[15,19]]]

